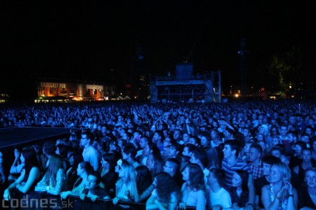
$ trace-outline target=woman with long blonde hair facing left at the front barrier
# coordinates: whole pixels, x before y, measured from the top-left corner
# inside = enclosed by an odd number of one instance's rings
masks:
[[[136,183],[136,172],[134,167],[126,160],[118,160],[115,172],[119,174],[119,179],[115,183],[115,197],[113,204],[117,204],[119,200],[138,202],[138,190]]]

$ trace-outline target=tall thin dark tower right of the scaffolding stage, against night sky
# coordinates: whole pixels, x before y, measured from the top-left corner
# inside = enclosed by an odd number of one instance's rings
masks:
[[[246,38],[242,38],[240,41],[240,50],[238,51],[239,54],[239,65],[240,65],[240,72],[242,74],[242,97],[245,98],[247,94],[246,90]]]

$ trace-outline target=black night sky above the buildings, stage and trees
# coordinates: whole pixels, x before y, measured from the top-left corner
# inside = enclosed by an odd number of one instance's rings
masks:
[[[147,73],[175,73],[187,60],[195,73],[220,69],[223,85],[238,85],[241,38],[247,83],[259,83],[272,55],[293,45],[303,52],[308,79],[315,78],[315,2],[1,1],[0,67],[10,73],[1,83],[27,86],[37,76],[103,81],[110,69],[123,78],[141,45]]]

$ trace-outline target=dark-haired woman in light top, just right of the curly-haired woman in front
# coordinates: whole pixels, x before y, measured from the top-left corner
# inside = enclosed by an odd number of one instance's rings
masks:
[[[182,197],[179,207],[195,207],[197,210],[206,209],[206,191],[204,174],[197,164],[189,164],[182,172],[183,186],[181,188]]]

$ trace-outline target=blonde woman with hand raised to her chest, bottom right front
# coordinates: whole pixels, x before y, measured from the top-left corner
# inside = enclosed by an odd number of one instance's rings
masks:
[[[271,167],[270,185],[263,186],[261,199],[265,209],[297,209],[298,195],[292,187],[290,169],[283,162]]]

